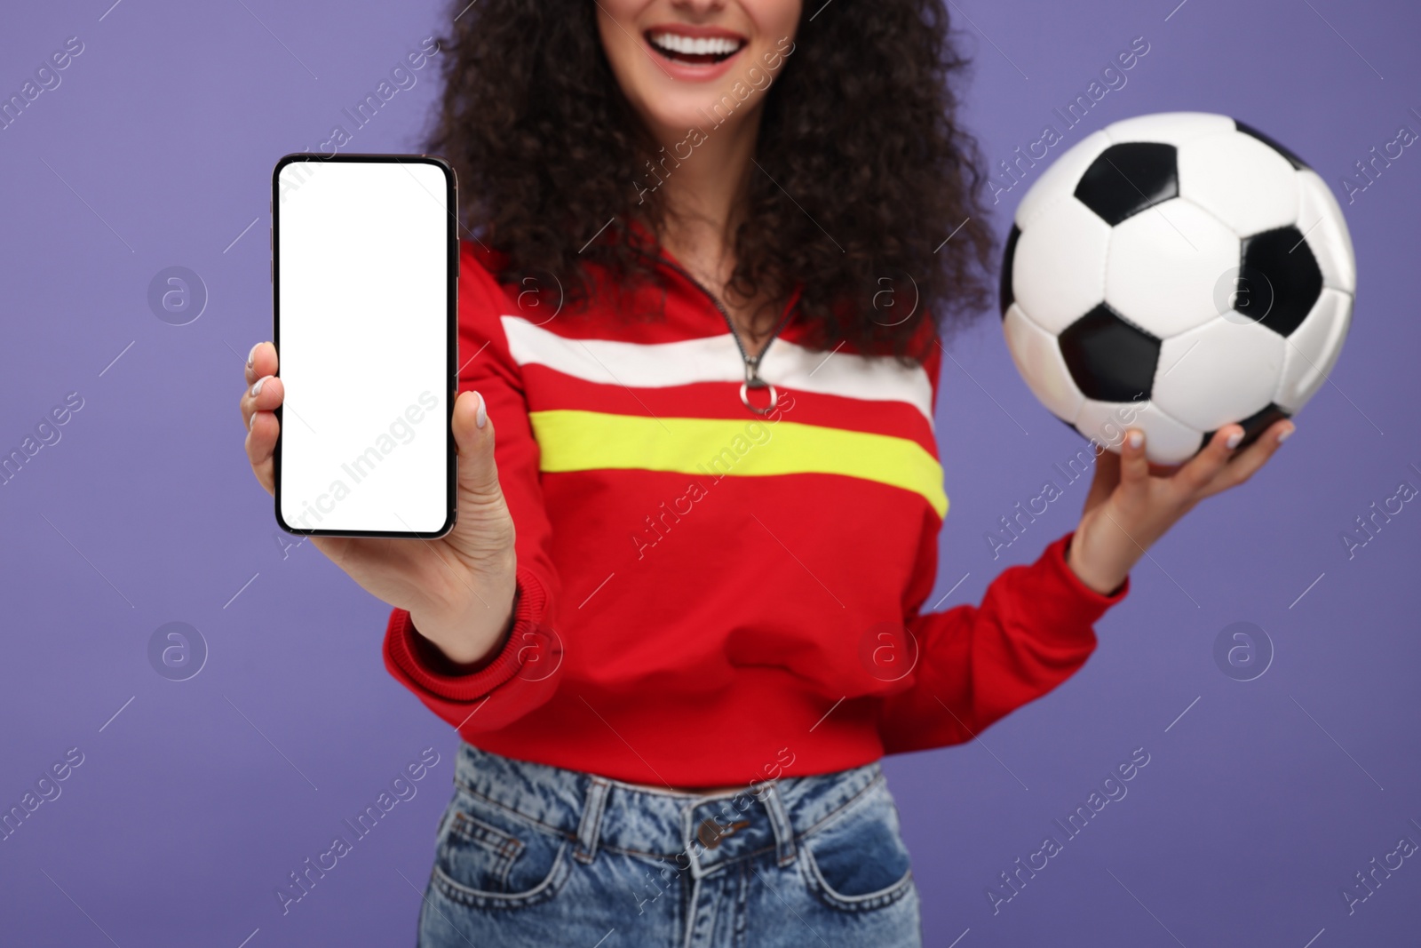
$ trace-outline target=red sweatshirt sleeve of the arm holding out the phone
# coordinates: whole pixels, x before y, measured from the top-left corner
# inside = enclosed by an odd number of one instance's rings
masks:
[[[475,668],[455,668],[396,608],[385,630],[385,668],[462,735],[495,731],[547,701],[561,644],[551,628],[558,581],[549,554],[539,445],[523,378],[503,331],[512,303],[469,243],[459,253],[459,391],[477,391],[497,426],[495,462],[517,534],[513,624],[502,648]]]

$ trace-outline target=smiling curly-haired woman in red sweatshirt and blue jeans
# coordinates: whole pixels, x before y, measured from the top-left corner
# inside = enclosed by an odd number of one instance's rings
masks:
[[[314,540],[466,740],[421,944],[919,944],[878,759],[1073,674],[1145,549],[1292,422],[1174,470],[1130,431],[1071,533],[922,613],[941,341],[992,253],[938,0],[450,13],[459,522]],[[276,372],[259,344],[267,490]]]

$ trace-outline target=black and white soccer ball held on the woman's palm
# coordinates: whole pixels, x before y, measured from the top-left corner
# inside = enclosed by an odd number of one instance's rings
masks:
[[[1317,173],[1226,115],[1141,115],[1063,153],[1022,199],[1002,325],[1032,392],[1160,465],[1231,422],[1243,445],[1322,387],[1351,321],[1356,262]],[[1100,432],[1111,432],[1111,438]]]

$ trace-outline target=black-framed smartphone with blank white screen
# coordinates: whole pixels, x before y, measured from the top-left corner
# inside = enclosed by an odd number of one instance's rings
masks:
[[[458,193],[443,159],[293,153],[276,163],[283,530],[432,539],[453,527],[458,281]]]

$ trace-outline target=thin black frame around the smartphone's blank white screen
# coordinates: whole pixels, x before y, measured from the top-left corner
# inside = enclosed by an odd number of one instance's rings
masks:
[[[281,377],[281,266],[280,266],[280,247],[281,247],[281,202],[280,202],[280,178],[281,169],[287,165],[294,165],[298,162],[315,162],[315,163],[398,163],[398,165],[433,165],[443,171],[445,189],[449,215],[446,222],[446,240],[448,244],[448,314],[446,314],[446,330],[445,330],[445,378],[446,392],[445,392],[445,438],[448,438],[448,466],[445,470],[445,522],[433,532],[423,530],[323,530],[320,527],[297,527],[287,523],[281,517],[281,433],[277,432],[276,449],[271,453],[271,463],[276,476],[276,490],[274,490],[274,509],[276,522],[287,533],[294,533],[298,536],[352,536],[352,537],[395,537],[395,539],[419,539],[419,540],[435,540],[446,536],[458,520],[458,485],[459,485],[459,452],[453,439],[453,402],[459,394],[459,189],[458,181],[455,179],[453,166],[439,158],[438,155],[394,155],[394,153],[351,153],[351,155],[328,155],[325,152],[291,152],[283,155],[276,166],[271,169],[271,344],[277,351],[277,378]],[[286,431],[286,424],[281,416],[281,408],[276,409],[277,424],[281,431]]]

